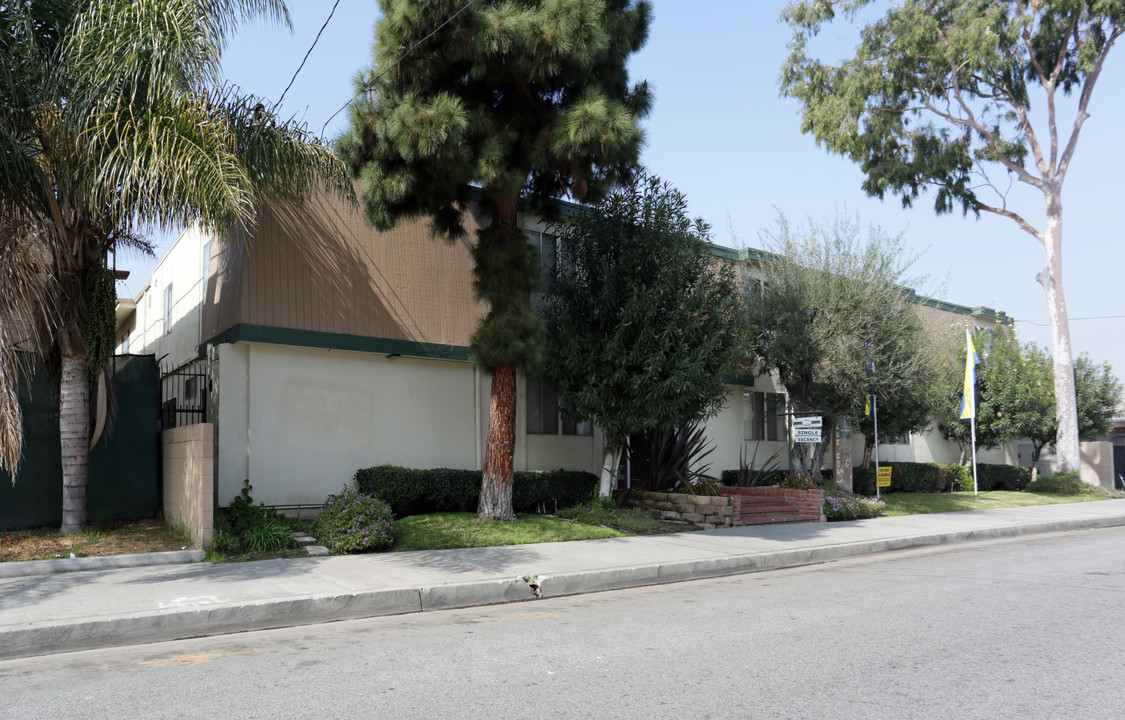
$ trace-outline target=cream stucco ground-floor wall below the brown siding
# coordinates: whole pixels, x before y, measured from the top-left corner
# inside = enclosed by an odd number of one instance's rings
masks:
[[[468,362],[240,342],[215,363],[222,505],[246,478],[254,501],[318,504],[362,467],[482,465],[489,384]],[[528,435],[519,387],[515,468],[596,471],[601,433]]]

